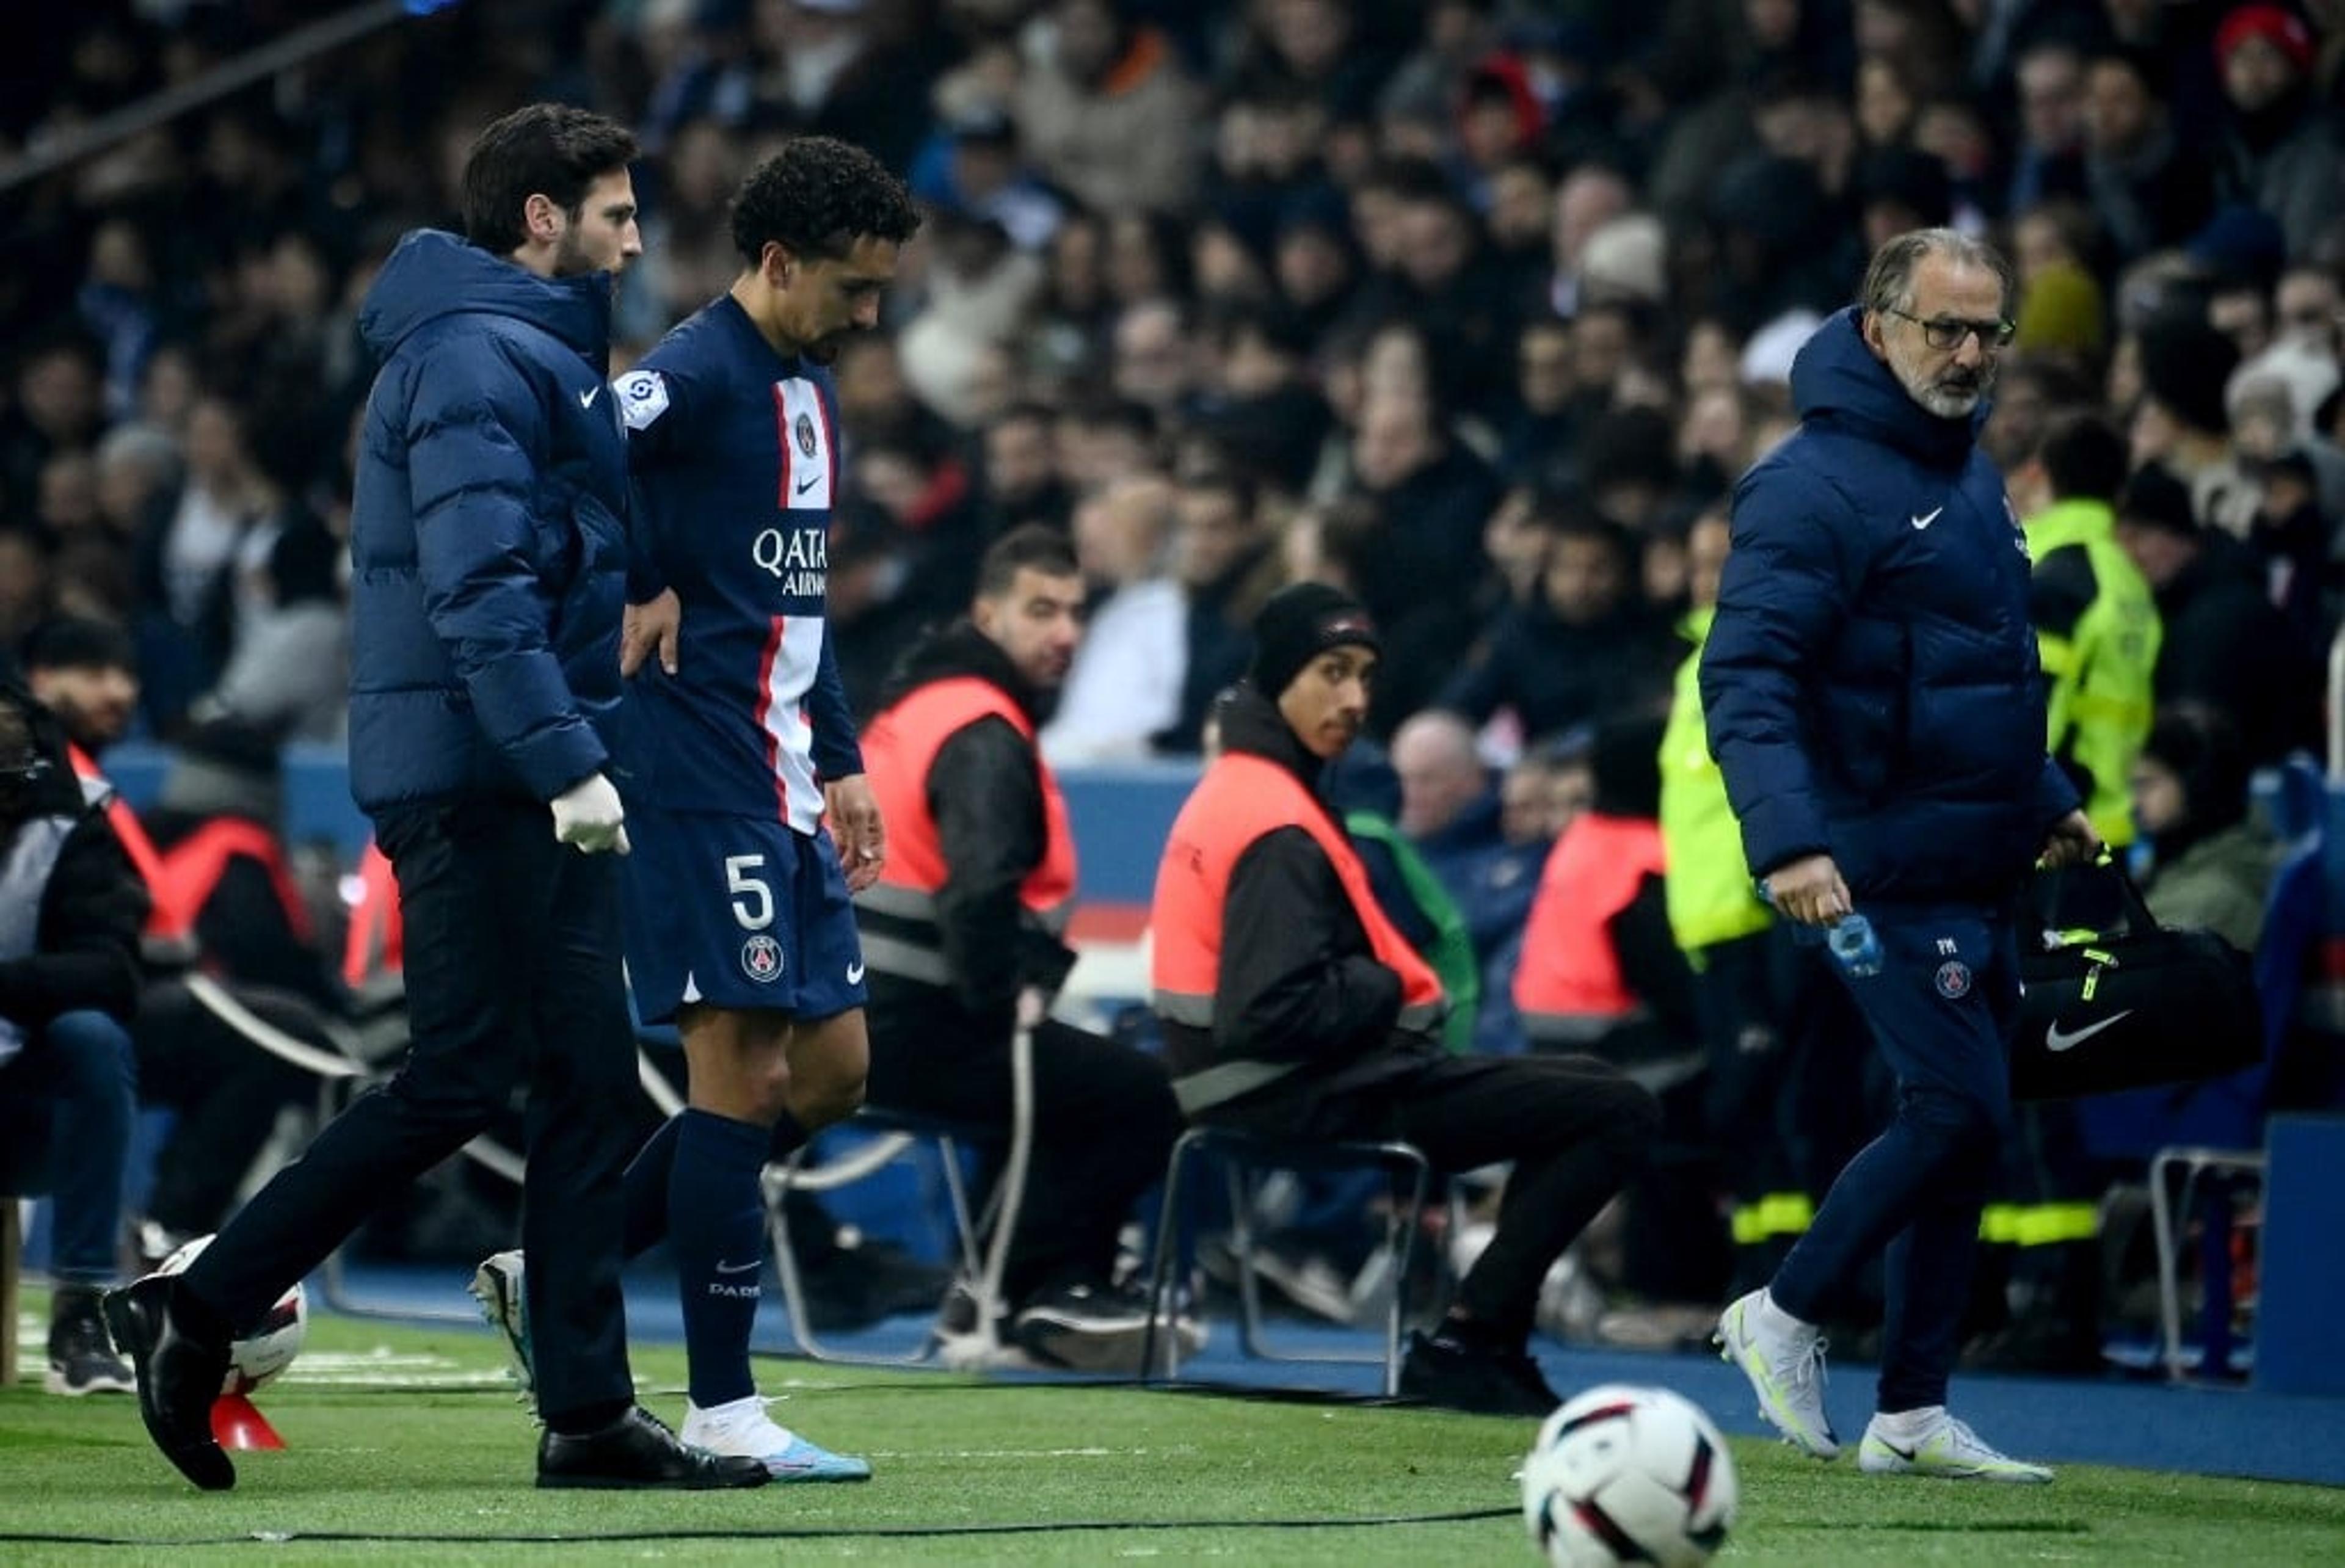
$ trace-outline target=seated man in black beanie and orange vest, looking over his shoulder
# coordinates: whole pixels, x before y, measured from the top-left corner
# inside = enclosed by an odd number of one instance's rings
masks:
[[[1151,1003],[1191,1120],[1278,1139],[1405,1139],[1435,1170],[1515,1170],[1498,1230],[1442,1324],[1412,1334],[1400,1392],[1545,1416],[1529,1357],[1538,1287],[1644,1160],[1653,1097],[1590,1057],[1452,1057],[1433,970],[1377,907],[1320,771],[1358,738],[1379,659],[1367,607],[1276,593],[1219,708],[1222,755],[1165,841]]]

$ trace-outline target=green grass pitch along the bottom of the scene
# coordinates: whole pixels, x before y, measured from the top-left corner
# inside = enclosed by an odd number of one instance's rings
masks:
[[[485,1334],[317,1320],[260,1397],[286,1453],[237,1455],[225,1495],[188,1488],[127,1397],[0,1390],[0,1563],[1536,1561],[1513,1481],[1527,1423],[762,1362],[774,1416],[877,1479],[537,1493],[497,1366]],[[682,1352],[640,1348],[635,1373],[680,1418]],[[2345,1491],[2096,1467],[2050,1488],[1885,1481],[1745,1439],[1735,1463],[1724,1563],[2345,1563]]]

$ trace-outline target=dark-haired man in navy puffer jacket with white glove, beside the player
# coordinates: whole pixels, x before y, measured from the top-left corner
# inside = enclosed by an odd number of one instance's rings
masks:
[[[619,701],[626,436],[603,377],[643,253],[635,138],[530,105],[464,159],[464,239],[408,234],[361,309],[385,356],[352,511],[349,773],[399,877],[410,1048],[181,1275],[106,1298],[155,1446],[211,1437],[230,1343],[375,1209],[530,1090],[523,1238],[539,1486],[757,1486],[635,1406],[619,1296],[635,1052],[626,853],[596,724]]]

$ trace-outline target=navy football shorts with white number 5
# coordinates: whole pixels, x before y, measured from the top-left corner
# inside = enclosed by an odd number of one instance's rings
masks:
[[[626,970],[647,1024],[687,1003],[830,1017],[861,1008],[863,942],[828,832],[628,811]]]

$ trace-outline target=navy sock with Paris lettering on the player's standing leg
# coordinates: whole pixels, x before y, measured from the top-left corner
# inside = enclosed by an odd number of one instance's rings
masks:
[[[711,1411],[757,1392],[748,1336],[757,1324],[764,1273],[767,1130],[713,1111],[675,1118],[668,1177],[668,1242],[685,1305],[685,1362],[692,1404]]]

